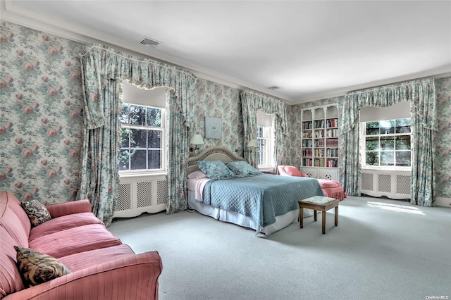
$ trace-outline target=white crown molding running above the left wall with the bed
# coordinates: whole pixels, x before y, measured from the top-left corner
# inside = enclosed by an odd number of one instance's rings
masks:
[[[34,30],[43,31],[51,35],[56,35],[58,37],[70,39],[75,42],[80,42],[82,44],[106,44],[107,46],[111,46],[115,49],[125,51],[130,54],[138,54],[141,57],[144,56],[144,58],[151,58],[157,61],[177,65],[181,68],[189,70],[196,77],[204,80],[216,82],[218,84],[226,85],[227,87],[232,87],[235,89],[254,89],[258,92],[279,98],[287,104],[292,104],[293,101],[292,99],[289,99],[287,96],[281,93],[253,85],[243,80],[237,80],[233,77],[228,77],[221,73],[216,73],[206,68],[199,67],[198,65],[187,63],[186,61],[182,61],[178,58],[173,58],[172,56],[160,54],[156,51],[152,51],[152,49],[148,49],[146,46],[142,46],[141,44],[130,44],[128,42],[123,42],[120,39],[116,39],[108,35],[103,35],[99,32],[94,32],[93,30],[89,30],[85,27],[71,25],[59,20],[49,19],[47,17],[44,17],[43,15],[40,15],[39,13],[30,11],[27,8],[13,4],[13,1],[11,0],[1,0],[0,10],[2,11],[1,19],[11,23],[30,27]]]

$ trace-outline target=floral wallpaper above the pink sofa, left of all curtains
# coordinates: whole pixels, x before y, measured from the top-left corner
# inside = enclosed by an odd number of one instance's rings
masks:
[[[82,44],[1,22],[0,189],[44,204],[80,186]]]

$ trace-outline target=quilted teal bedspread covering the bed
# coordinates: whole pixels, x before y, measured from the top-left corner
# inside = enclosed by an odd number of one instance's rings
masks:
[[[311,196],[323,196],[314,178],[264,174],[210,180],[204,187],[202,203],[252,218],[259,232],[275,223],[276,216],[298,208],[298,200]]]

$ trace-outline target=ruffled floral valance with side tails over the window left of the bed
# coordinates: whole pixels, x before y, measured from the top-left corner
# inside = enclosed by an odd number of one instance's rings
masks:
[[[88,129],[105,124],[102,87],[110,79],[128,80],[137,87],[152,89],[166,87],[177,97],[178,109],[185,116],[186,126],[192,124],[192,102],[196,77],[187,70],[139,58],[101,44],[92,44],[81,55],[82,68],[89,78],[83,78],[85,87],[85,114]]]

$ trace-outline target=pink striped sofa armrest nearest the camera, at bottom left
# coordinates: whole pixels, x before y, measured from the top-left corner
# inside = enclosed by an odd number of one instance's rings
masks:
[[[163,265],[157,251],[58,277],[10,294],[13,299],[158,299],[158,278]]]

